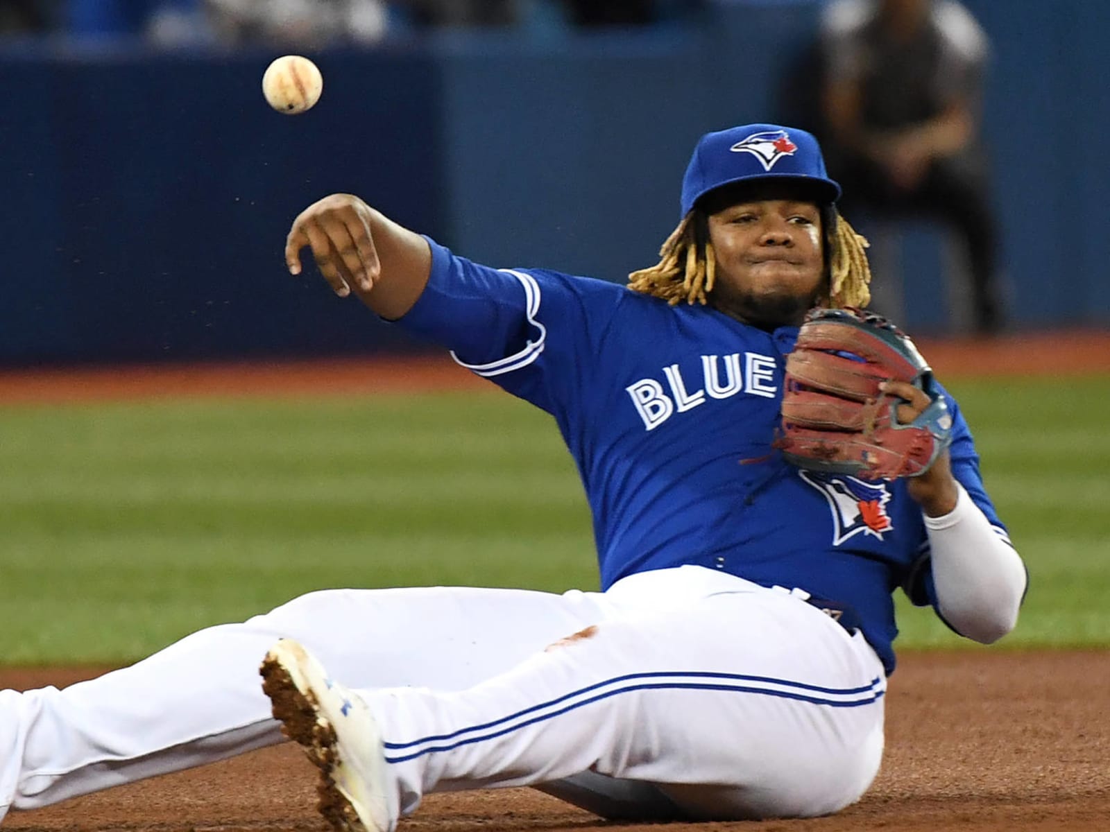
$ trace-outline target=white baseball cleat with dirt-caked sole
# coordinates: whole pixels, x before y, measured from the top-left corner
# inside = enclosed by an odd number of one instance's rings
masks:
[[[282,733],[320,769],[320,814],[336,832],[390,832],[385,753],[365,702],[292,639],[274,645],[259,672]]]

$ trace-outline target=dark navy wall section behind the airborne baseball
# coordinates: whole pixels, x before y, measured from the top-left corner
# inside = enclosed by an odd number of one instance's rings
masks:
[[[0,89],[18,91],[0,123],[0,362],[411,347],[313,272],[290,277],[283,247],[297,212],[333,191],[443,227],[434,62],[320,55],[331,105],[289,118],[261,95],[272,57],[0,62]]]

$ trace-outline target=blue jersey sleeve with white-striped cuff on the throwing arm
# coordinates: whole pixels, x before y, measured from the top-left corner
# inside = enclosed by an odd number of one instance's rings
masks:
[[[492,268],[427,242],[427,286],[397,325],[548,413],[568,412],[612,317],[606,310],[625,290],[546,270]]]

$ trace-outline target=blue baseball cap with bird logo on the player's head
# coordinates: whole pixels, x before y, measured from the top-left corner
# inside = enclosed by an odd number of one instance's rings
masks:
[[[818,203],[840,199],[829,179],[817,139],[778,124],[744,124],[703,135],[683,177],[683,216],[722,185],[758,180],[797,180],[814,185]]]

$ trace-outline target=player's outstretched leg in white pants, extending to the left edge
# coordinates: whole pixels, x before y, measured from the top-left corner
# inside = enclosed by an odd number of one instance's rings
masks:
[[[0,692],[0,818],[281,741],[258,668],[280,638],[361,686],[466,688],[597,618],[599,593],[325,590],[63,690]]]

